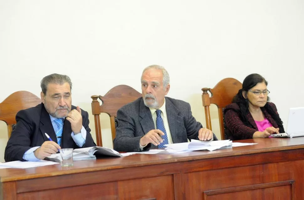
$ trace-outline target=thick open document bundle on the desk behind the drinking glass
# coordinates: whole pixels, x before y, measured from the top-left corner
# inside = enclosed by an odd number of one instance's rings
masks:
[[[113,149],[107,147],[99,147],[99,146],[79,148],[73,150],[73,161],[96,159],[96,156],[122,157],[123,155]],[[60,162],[61,155],[59,153],[52,154],[46,157],[45,159],[50,161]]]

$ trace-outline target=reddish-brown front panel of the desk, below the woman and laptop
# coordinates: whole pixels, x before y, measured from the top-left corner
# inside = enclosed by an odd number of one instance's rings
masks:
[[[294,199],[293,190],[302,193],[304,180],[294,176],[294,165],[304,166],[304,161],[271,163],[225,170],[213,170],[187,173],[184,180],[189,199]],[[304,173],[301,169],[299,173]],[[294,181],[296,180],[296,184]],[[228,187],[227,187],[228,186]],[[279,190],[279,188],[281,188]],[[282,189],[283,188],[283,189]],[[200,192],[198,192],[200,191]],[[270,193],[276,191],[275,193]],[[261,194],[255,196],[255,194]],[[289,198],[282,198],[286,195]],[[269,196],[270,195],[270,196]],[[246,197],[246,198],[244,198]],[[270,198],[273,197],[273,198]],[[302,196],[303,197],[303,196]],[[302,199],[302,198],[300,198]]]

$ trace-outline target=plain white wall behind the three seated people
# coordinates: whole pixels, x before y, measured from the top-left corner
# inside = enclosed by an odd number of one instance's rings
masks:
[[[289,107],[304,106],[303,20],[301,0],[0,0],[0,102],[18,90],[39,96],[42,77],[56,72],[90,113],[91,95],[119,84],[140,91],[141,71],[158,64],[170,74],[168,96],[189,102],[202,124],[202,87],[260,73],[286,126]],[[102,123],[111,147],[107,115]],[[5,123],[0,131],[3,161]]]

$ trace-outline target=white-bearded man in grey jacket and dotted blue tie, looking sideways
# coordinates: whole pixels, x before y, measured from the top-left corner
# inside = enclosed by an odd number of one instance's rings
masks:
[[[170,78],[164,67],[146,67],[141,89],[142,97],[117,112],[115,150],[164,148],[166,144],[187,142],[187,139],[217,140],[211,130],[195,120],[189,103],[165,97]]]

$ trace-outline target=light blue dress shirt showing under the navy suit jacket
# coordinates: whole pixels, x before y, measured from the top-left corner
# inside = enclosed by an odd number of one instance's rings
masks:
[[[50,115],[50,119],[54,128],[54,131],[57,130],[57,124],[54,122],[54,120],[56,119],[55,117]],[[77,146],[82,147],[84,145],[84,143],[86,142],[86,129],[82,126],[81,128],[81,132],[80,134],[74,134],[74,132],[71,133],[71,136],[74,140],[74,142],[76,143]],[[35,146],[30,148],[29,150],[27,150],[24,155],[23,155],[23,159],[26,161],[40,161],[40,159],[36,158],[36,156],[34,155],[34,151],[36,149],[38,149],[40,146]]]

